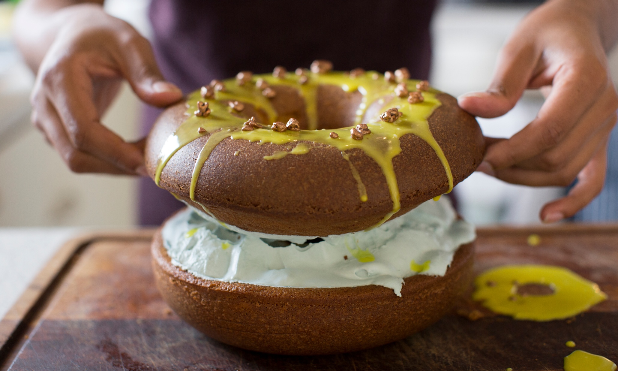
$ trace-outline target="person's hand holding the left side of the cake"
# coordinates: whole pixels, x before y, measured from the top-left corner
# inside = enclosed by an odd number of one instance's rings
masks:
[[[143,140],[125,142],[101,116],[126,79],[148,104],[182,98],[156,65],[150,43],[103,8],[80,4],[55,16],[66,20],[38,69],[32,122],[77,173],[145,175]]]

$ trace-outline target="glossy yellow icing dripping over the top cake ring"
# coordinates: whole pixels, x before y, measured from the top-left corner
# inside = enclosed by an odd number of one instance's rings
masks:
[[[159,184],[161,181],[161,173],[169,159],[184,145],[192,142],[203,135],[209,135],[204,147],[200,151],[198,160],[193,169],[192,181],[189,189],[190,198],[195,201],[195,186],[197,185],[200,171],[203,164],[208,160],[211,151],[224,139],[231,138],[233,140],[249,140],[250,142],[274,143],[284,145],[298,141],[306,141],[313,143],[321,143],[331,145],[339,151],[351,150],[360,148],[366,155],[370,156],[381,168],[389,189],[389,194],[392,200],[392,210],[389,211],[382,220],[376,224],[381,225],[389,220],[392,215],[400,209],[399,186],[392,165],[392,159],[401,152],[399,143],[400,137],[406,134],[417,135],[424,140],[431,148],[433,148],[436,156],[444,167],[449,189],[451,192],[453,187],[451,168],[442,152],[442,149],[434,139],[427,122],[427,118],[431,116],[434,109],[441,105],[436,95],[438,90],[430,89],[428,92],[423,92],[424,101],[422,103],[410,104],[405,98],[400,98],[394,93],[396,84],[384,81],[383,75],[379,74],[378,79],[373,79],[372,76],[376,72],[368,71],[363,75],[350,78],[344,72],[329,72],[327,74],[313,74],[307,72],[308,82],[301,85],[298,83],[300,78],[298,75],[287,73],[284,79],[273,77],[271,74],[253,75],[252,82],[245,83],[242,86],[235,83],[235,79],[224,80],[225,91],[215,92],[214,99],[204,99],[200,96],[200,92],[193,92],[187,99],[187,119],[178,127],[174,134],[171,134],[164,142],[161,152],[159,153],[158,166],[155,172],[155,182]],[[276,132],[269,128],[269,122],[263,122],[265,129],[255,129],[250,131],[242,131],[240,128],[246,119],[237,117],[232,108],[226,102],[228,100],[238,100],[243,103],[253,104],[256,109],[261,109],[266,113],[270,122],[277,118],[277,112],[271,104],[269,98],[261,94],[261,90],[255,86],[255,81],[261,78],[271,85],[288,85],[298,90],[300,95],[305,100],[305,111],[307,113],[308,127],[310,130],[300,130],[298,132],[287,130],[285,132]],[[415,91],[417,80],[407,80],[408,90]],[[344,127],[334,130],[318,130],[318,112],[316,103],[316,92],[319,85],[336,85],[342,88],[345,92],[354,92],[358,90],[362,94],[362,102],[359,104],[356,111],[354,123],[366,123],[371,134],[365,135],[362,140],[355,140],[350,137],[350,127]],[[386,98],[386,99],[385,99]],[[198,101],[207,101],[211,110],[207,117],[198,117],[193,114],[197,109]],[[381,104],[379,113],[388,108],[397,108],[402,113],[402,117],[396,122],[384,122],[379,119],[379,114],[375,116],[366,115],[366,109],[374,102]],[[206,132],[198,133],[198,128],[202,127]],[[330,132],[339,134],[339,138],[332,139]],[[299,144],[300,145],[300,144]],[[287,156],[288,153],[300,155],[307,153],[302,152],[303,147],[297,145],[294,150],[284,153],[273,153],[271,156],[265,156],[265,160],[276,160]],[[298,148],[298,149],[297,149]],[[284,152],[284,151],[281,151]],[[358,172],[357,172],[358,173]],[[355,177],[356,178],[356,177]],[[359,194],[362,201],[366,200],[365,186],[360,182],[360,176],[356,179],[359,186]],[[363,193],[364,192],[364,193]],[[208,212],[208,210],[202,205]],[[375,228],[373,226],[372,228]],[[370,228],[371,229],[371,228]]]

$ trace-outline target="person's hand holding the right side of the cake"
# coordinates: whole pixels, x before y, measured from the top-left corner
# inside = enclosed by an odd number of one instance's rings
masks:
[[[497,117],[513,108],[526,88],[548,87],[538,115],[520,132],[508,140],[486,138],[478,168],[533,186],[567,186],[577,177],[567,196],[544,205],[540,217],[546,223],[585,207],[605,179],[618,97],[590,2],[549,1],[531,12],[502,49],[488,90],[459,97],[469,113]]]

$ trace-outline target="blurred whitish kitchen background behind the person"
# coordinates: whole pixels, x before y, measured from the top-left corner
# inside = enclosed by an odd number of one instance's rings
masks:
[[[442,2],[433,20],[432,85],[454,96],[484,90],[499,49],[538,3]],[[150,35],[148,0],[107,0],[105,7]],[[28,95],[34,77],[11,43],[13,9],[14,2],[0,1],[0,226],[134,225],[136,179],[71,173],[31,126]],[[610,63],[618,77],[618,53],[611,54]],[[479,122],[486,135],[509,137],[535,117],[542,103],[540,93],[526,92],[509,114]],[[103,122],[134,140],[140,110],[140,102],[125,86]],[[462,215],[478,225],[534,224],[542,205],[564,190],[511,185],[475,173],[455,194]]]

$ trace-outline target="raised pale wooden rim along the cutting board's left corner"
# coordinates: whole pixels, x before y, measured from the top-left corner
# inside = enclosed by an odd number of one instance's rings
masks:
[[[0,320],[0,365],[6,364],[6,358],[15,344],[19,344],[23,336],[27,335],[27,329],[33,327],[32,323],[40,317],[54,289],[88,245],[101,240],[149,240],[155,231],[156,228],[143,228],[87,232],[65,242]]]

